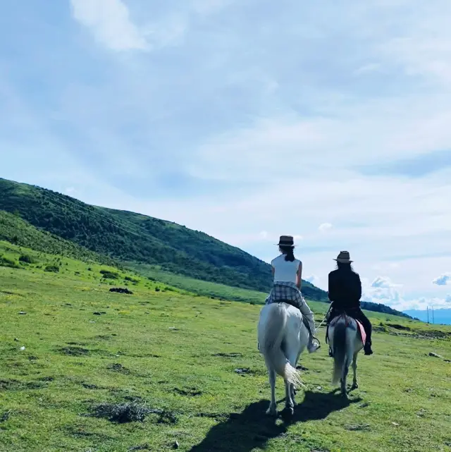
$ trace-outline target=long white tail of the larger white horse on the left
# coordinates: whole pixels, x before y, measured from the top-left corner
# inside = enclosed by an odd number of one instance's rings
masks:
[[[285,306],[273,304],[269,307],[267,322],[263,325],[261,353],[263,353],[268,369],[276,371],[280,377],[295,386],[302,386],[299,372],[290,365],[282,350],[285,338],[285,326],[287,324],[287,312]]]

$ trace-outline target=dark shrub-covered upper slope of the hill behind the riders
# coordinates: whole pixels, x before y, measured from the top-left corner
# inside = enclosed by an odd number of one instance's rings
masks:
[[[268,291],[271,269],[205,233],[150,216],[95,207],[66,195],[0,178],[0,209],[88,250],[122,261],[151,264],[174,274]],[[307,281],[304,294],[325,300]]]

